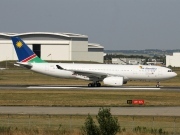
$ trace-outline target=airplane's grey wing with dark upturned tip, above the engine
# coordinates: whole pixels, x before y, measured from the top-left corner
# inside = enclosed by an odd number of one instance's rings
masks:
[[[56,67],[58,69],[60,69],[60,70],[72,71],[74,74],[87,76],[89,78],[101,78],[101,79],[104,79],[104,78],[106,78],[108,76],[116,76],[116,75],[113,75],[113,74],[107,74],[107,73],[95,72],[95,71],[84,71],[84,70],[80,71],[80,70],[64,69],[59,65],[56,65]],[[124,77],[124,76],[122,76],[122,77]]]

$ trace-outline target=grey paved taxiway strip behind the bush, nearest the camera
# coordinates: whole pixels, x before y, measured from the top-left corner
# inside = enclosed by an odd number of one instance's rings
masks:
[[[0,114],[97,115],[99,107],[0,106]],[[113,115],[180,116],[180,107],[111,107]]]

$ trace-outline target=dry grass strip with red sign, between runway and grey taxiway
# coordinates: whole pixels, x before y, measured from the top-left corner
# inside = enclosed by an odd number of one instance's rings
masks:
[[[144,99],[144,106],[180,106],[179,97],[179,91],[0,90],[0,105],[112,107]]]

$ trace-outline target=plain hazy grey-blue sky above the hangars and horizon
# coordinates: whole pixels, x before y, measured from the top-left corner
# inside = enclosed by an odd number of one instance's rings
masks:
[[[105,50],[180,49],[180,0],[1,0],[0,32],[67,32]]]

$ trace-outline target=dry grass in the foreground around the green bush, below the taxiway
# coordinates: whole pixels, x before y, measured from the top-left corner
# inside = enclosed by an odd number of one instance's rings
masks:
[[[16,133],[27,132],[31,134],[71,134],[80,135],[81,128],[84,125],[87,116],[78,115],[0,115],[0,134],[1,127],[11,127],[11,131]],[[95,116],[92,116],[97,124]],[[121,129],[124,132],[119,135],[132,135],[136,127],[146,129],[162,129],[168,133],[180,133],[180,118],[177,117],[160,117],[160,116],[115,116],[118,118]],[[34,133],[35,132],[35,133]],[[19,134],[18,133],[18,134]],[[141,133],[141,132],[140,132]],[[150,134],[142,132],[141,134]],[[16,133],[17,134],[17,133]],[[25,133],[23,133],[25,134]],[[158,135],[158,132],[156,133]]]

